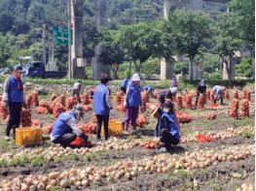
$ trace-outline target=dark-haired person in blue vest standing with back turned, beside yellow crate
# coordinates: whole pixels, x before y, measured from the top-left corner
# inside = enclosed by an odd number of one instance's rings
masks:
[[[101,74],[100,83],[96,86],[93,95],[93,111],[97,117],[96,139],[100,141],[101,126],[104,126],[104,137],[108,139],[109,113],[113,109],[111,91],[108,87],[111,79],[107,74]]]

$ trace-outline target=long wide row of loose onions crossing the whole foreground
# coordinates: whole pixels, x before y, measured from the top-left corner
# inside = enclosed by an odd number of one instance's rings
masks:
[[[58,150],[56,150],[58,151]],[[173,170],[199,169],[221,162],[244,160],[254,155],[254,145],[230,146],[224,149],[196,150],[184,155],[159,154],[146,156],[138,160],[123,160],[110,166],[87,166],[72,168],[62,172],[51,172],[44,175],[18,175],[12,179],[1,180],[0,188],[7,190],[51,190],[55,186],[60,189],[85,189],[90,184],[105,180],[118,181],[121,178],[132,179],[138,174],[166,174]],[[243,185],[243,188],[246,187]]]

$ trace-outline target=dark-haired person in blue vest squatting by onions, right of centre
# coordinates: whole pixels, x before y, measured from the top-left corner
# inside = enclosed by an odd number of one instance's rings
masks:
[[[160,121],[156,135],[160,135],[160,141],[165,145],[160,151],[169,152],[172,145],[176,145],[180,142],[179,122],[171,101],[165,101],[164,110],[159,109],[159,112]]]

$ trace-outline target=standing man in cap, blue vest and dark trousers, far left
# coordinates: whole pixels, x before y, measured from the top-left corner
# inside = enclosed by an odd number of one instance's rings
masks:
[[[6,109],[9,111],[9,120],[6,127],[5,137],[7,142],[10,141],[10,133],[12,129],[14,130],[14,139],[16,139],[16,128],[19,126],[22,105],[25,107],[23,104],[25,99],[21,76],[22,67],[16,65],[14,67],[13,75],[9,77],[4,84],[3,101]]]

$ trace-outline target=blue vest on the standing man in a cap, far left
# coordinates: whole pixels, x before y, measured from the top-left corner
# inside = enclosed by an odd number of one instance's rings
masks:
[[[20,82],[23,85],[22,81]],[[23,88],[18,89],[18,80],[15,77],[9,78],[8,102],[23,103]]]

